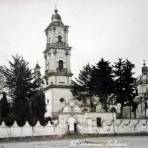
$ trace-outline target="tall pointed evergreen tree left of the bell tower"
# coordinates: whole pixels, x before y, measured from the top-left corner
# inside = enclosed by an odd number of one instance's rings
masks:
[[[29,114],[28,101],[36,92],[33,74],[22,56],[12,56],[9,68],[4,67],[6,86],[13,101],[14,113],[20,118],[27,118]]]

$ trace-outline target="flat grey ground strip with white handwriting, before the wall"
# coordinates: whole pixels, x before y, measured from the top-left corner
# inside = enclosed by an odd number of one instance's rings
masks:
[[[148,136],[65,138],[23,142],[3,141],[0,148],[148,148]]]

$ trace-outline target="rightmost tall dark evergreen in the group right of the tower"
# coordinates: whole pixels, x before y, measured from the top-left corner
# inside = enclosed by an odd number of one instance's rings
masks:
[[[114,64],[115,74],[115,95],[117,102],[121,103],[121,116],[123,115],[123,107],[133,103],[135,95],[135,78],[133,77],[134,64],[129,60],[123,61],[118,59]]]

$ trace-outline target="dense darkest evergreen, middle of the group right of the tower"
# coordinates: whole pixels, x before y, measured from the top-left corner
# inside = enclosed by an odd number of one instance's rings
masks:
[[[108,96],[113,93],[113,70],[109,61],[103,58],[94,66],[92,81],[95,95],[101,98],[105,111],[107,111]]]

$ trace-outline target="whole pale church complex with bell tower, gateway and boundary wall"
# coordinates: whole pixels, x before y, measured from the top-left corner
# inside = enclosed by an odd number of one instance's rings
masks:
[[[32,136],[64,136],[67,134],[145,134],[148,133],[148,67],[143,65],[142,75],[137,79],[138,105],[136,119],[117,119],[120,107],[111,106],[109,112],[96,106],[95,112],[83,111],[71,92],[71,47],[68,44],[69,26],[62,22],[58,10],[54,10],[51,22],[45,29],[46,48],[44,50],[45,74],[43,90],[46,102],[46,117],[52,117],[52,123],[41,125],[39,121],[30,126],[18,126],[15,121],[7,127],[4,121],[0,126],[0,138]],[[40,66],[35,66],[35,77],[40,75]],[[114,108],[114,109],[113,109]],[[114,111],[112,111],[114,110]],[[140,118],[140,119],[139,119]]]

